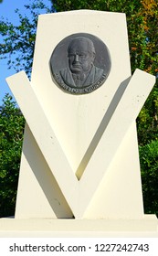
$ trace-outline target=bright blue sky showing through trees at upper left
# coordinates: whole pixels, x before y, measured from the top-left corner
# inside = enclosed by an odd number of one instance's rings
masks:
[[[33,2],[33,0],[31,2]],[[50,3],[49,0],[45,0],[44,2],[46,4]],[[0,4],[0,19],[3,16],[4,18],[7,18],[8,21],[16,25],[18,23],[18,16],[15,13],[16,8],[20,10],[21,14],[26,14],[26,8],[24,5],[29,5],[29,3],[30,0],[4,0],[3,3]],[[1,36],[0,41],[2,41]],[[2,99],[7,92],[12,95],[5,78],[15,73],[15,69],[8,69],[7,59],[0,59],[0,105],[2,104]]]

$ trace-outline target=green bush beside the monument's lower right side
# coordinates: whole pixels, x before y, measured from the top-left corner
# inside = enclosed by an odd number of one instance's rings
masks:
[[[140,146],[140,158],[144,209],[158,217],[158,141]]]

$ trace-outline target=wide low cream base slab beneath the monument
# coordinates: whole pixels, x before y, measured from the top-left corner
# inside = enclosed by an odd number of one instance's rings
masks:
[[[3,238],[157,238],[154,215],[142,219],[0,219]]]

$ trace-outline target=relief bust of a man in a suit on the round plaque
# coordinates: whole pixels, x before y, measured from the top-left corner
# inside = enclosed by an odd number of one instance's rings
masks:
[[[94,66],[95,48],[87,37],[76,37],[68,45],[68,68],[59,71],[62,80],[82,88],[100,80],[103,69]]]

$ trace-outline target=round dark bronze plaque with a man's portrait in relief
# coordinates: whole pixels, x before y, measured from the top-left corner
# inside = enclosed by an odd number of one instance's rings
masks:
[[[111,70],[111,56],[99,37],[87,33],[65,37],[50,58],[54,80],[63,91],[85,94],[98,89]]]

